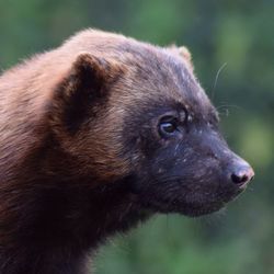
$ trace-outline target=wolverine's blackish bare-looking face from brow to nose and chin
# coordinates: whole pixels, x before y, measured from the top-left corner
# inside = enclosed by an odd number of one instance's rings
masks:
[[[160,109],[136,130],[141,157],[133,192],[156,212],[197,216],[218,210],[246,189],[253,171],[228,148],[216,114],[203,118],[182,105]]]

